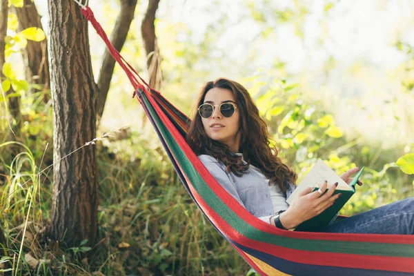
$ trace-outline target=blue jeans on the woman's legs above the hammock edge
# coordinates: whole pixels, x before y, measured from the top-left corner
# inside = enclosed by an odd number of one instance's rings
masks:
[[[335,220],[318,232],[414,235],[414,197]]]

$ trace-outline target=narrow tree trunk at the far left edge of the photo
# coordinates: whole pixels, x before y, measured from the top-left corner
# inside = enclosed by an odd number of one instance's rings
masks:
[[[7,35],[7,18],[8,18],[8,0],[0,0],[0,81],[4,80],[3,75],[3,64],[6,62],[5,48],[6,48],[6,35]],[[13,88],[10,86],[8,91],[4,91],[6,95],[10,95],[14,92]],[[17,126],[17,131],[19,133],[21,126],[21,116],[20,116],[20,98],[19,97],[10,97],[8,98],[8,109],[12,115],[15,126]]]

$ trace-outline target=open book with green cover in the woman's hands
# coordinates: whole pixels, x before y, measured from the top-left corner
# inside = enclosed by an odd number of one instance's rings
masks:
[[[355,175],[354,179],[348,185],[331,168],[329,168],[324,161],[319,159],[316,162],[315,166],[313,166],[308,174],[305,175],[304,179],[302,179],[300,184],[297,186],[292,195],[290,195],[290,197],[286,200],[286,202],[290,205],[297,194],[308,187],[313,187],[313,191],[317,190],[319,186],[322,186],[322,184],[324,184],[325,180],[328,181],[328,188],[338,182],[338,186],[335,189],[333,195],[342,193],[342,196],[337,198],[335,200],[335,203],[324,210],[324,212],[321,214],[302,222],[302,224],[299,224],[296,230],[317,231],[318,229],[328,226],[329,222],[337,215],[342,206],[346,204],[346,201],[348,201],[348,199],[350,199],[355,193],[355,184],[357,184],[362,170],[364,170],[364,167],[362,167],[359,172],[357,172],[357,175]]]

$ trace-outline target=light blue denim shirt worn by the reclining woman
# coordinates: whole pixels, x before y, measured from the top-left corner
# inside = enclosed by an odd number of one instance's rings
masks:
[[[242,153],[235,153],[242,156]],[[223,186],[223,188],[232,195],[249,213],[270,223],[270,217],[279,210],[274,210],[272,199],[270,197],[270,189],[268,186],[268,179],[264,177],[262,172],[253,165],[250,165],[248,170],[244,172],[241,177],[233,174],[233,172],[226,172],[226,166],[217,161],[210,155],[199,155],[198,158],[206,166],[211,175]],[[244,161],[246,164],[246,161]],[[279,197],[279,204],[277,206],[288,205],[284,202],[286,198],[293,193],[295,186],[290,184],[286,195]],[[273,195],[274,196],[274,195]],[[283,208],[286,209],[286,208]]]

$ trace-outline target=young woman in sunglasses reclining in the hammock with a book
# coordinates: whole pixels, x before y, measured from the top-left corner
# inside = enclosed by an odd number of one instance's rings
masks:
[[[228,79],[209,81],[201,89],[197,110],[187,135],[188,144],[219,184],[255,217],[294,230],[340,196],[333,195],[335,185],[324,193],[324,183],[319,191],[312,193],[308,188],[290,206],[286,203],[295,189],[297,175],[270,146],[266,122],[239,83]],[[349,183],[349,177],[358,170],[348,170],[341,178]],[[320,231],[413,235],[414,197],[334,221]]]

